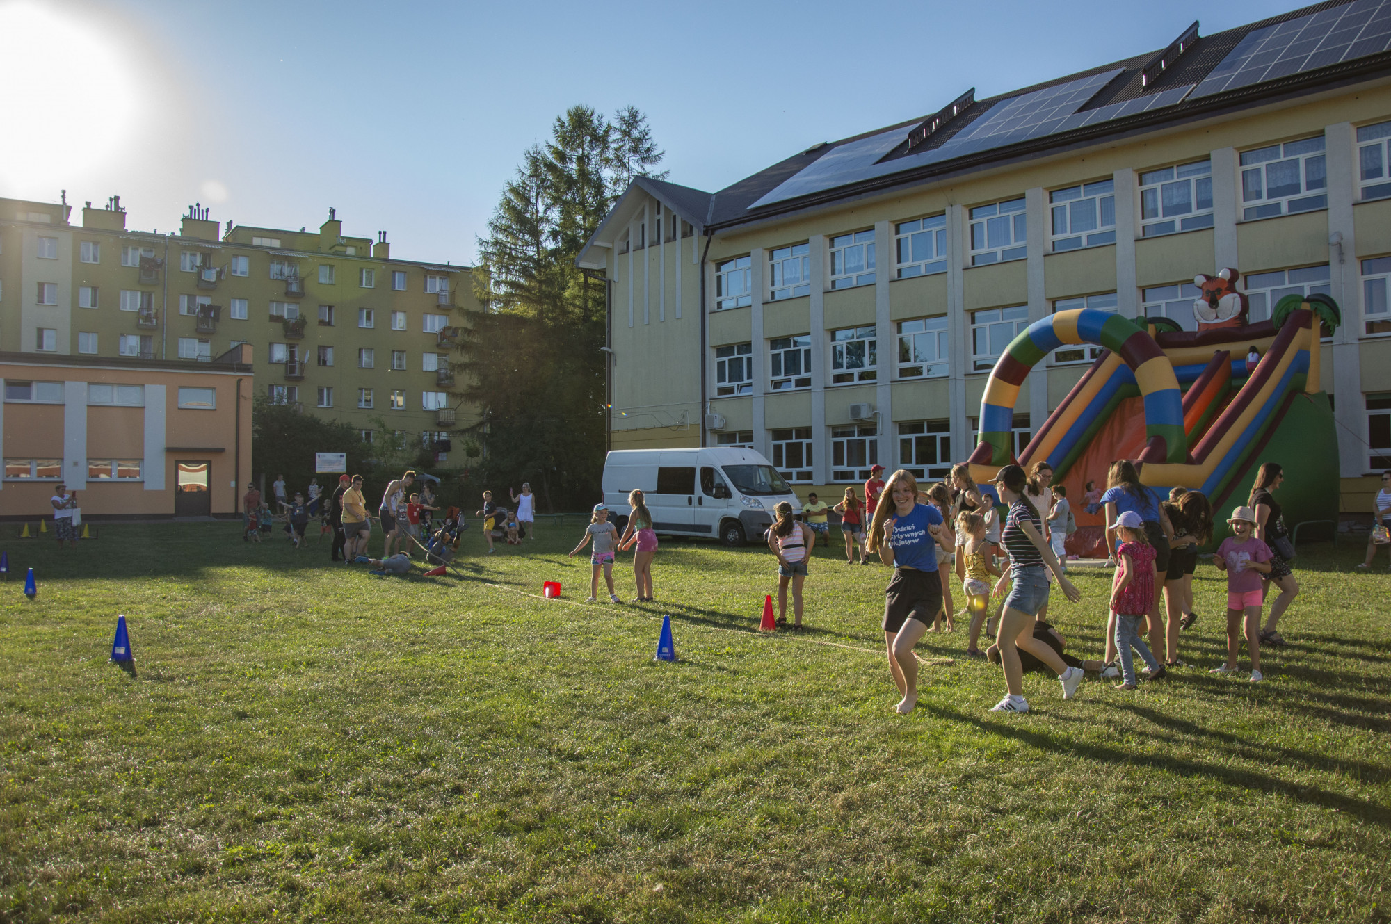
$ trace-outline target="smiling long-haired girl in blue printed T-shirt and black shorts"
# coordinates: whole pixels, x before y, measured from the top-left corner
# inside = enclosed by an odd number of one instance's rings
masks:
[[[942,608],[942,578],[938,572],[938,537],[942,513],[932,504],[918,502],[918,483],[911,472],[899,469],[883,487],[874,511],[865,545],[879,552],[879,561],[893,566],[885,590],[883,643],[889,672],[903,697],[893,707],[907,715],[918,704],[918,660],[912,646],[922,639]]]

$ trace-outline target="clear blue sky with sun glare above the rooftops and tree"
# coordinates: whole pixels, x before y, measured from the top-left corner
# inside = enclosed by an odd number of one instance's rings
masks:
[[[28,136],[53,146],[0,166],[0,195],[51,200],[67,188],[70,202],[100,205],[120,193],[131,227],[166,231],[195,200],[223,221],[289,228],[316,227],[334,206],[346,234],[385,230],[396,256],[467,263],[522,150],[574,103],[602,113],[637,106],[666,150],[669,178],[716,189],[819,141],[935,111],[970,86],[990,96],[1160,49],[1193,19],[1209,35],[1295,7],[47,0],[42,15],[36,8],[38,0],[0,0],[0,88],[47,90],[28,96],[57,113],[26,110],[40,125]],[[60,68],[6,54],[54,43]],[[96,96],[83,74],[90,60],[122,71]],[[0,89],[0,124],[15,124],[7,110],[24,96]]]

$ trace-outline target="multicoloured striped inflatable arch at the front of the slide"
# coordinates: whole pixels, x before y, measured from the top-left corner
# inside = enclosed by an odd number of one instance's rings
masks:
[[[1178,390],[1174,366],[1149,331],[1135,321],[1099,312],[1075,309],[1034,321],[1015,337],[990,370],[990,380],[981,398],[981,441],[971,454],[971,466],[997,470],[1013,463],[1011,422],[1020,385],[1036,362],[1063,345],[1092,344],[1118,355],[1131,372],[1145,398],[1145,449],[1142,462],[1182,463],[1188,458],[1184,436],[1184,397]],[[985,473],[979,469],[974,472]]]

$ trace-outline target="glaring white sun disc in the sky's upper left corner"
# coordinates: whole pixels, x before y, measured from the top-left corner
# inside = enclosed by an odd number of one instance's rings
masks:
[[[117,39],[77,8],[0,0],[0,193],[79,185],[129,142],[139,97]]]

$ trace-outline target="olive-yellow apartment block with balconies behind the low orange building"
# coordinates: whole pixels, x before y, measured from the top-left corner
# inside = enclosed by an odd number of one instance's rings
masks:
[[[451,397],[470,269],[391,255],[385,232],[348,237],[234,225],[189,207],[177,234],[125,227],[120,198],[82,209],[0,199],[0,351],[206,363],[255,346],[262,397],[419,438],[444,465],[473,416]]]

